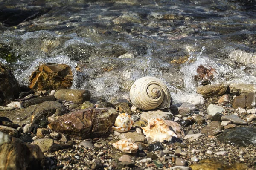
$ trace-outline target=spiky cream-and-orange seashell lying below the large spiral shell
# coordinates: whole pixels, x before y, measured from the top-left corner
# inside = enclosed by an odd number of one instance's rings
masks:
[[[169,126],[165,123],[163,119],[151,118],[148,120],[148,126],[141,127],[143,129],[144,135],[148,138],[152,138],[153,141],[164,142],[171,141],[172,136],[177,138],[177,135],[169,129]]]

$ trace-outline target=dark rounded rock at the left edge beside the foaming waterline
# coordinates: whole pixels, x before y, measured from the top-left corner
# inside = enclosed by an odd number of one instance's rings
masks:
[[[0,104],[5,104],[19,97],[20,85],[6,66],[0,64]]]

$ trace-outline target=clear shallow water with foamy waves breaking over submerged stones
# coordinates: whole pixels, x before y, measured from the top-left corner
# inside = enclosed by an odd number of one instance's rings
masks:
[[[256,82],[255,65],[229,59],[256,52],[253,0],[0,0],[0,16],[0,62],[21,84],[50,62],[72,67],[72,88],[107,100],[149,75],[182,101],[199,65],[215,69],[212,84]]]

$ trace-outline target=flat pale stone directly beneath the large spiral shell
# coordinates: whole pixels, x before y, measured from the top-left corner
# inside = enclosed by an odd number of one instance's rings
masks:
[[[148,111],[148,112],[143,112],[140,115],[140,119],[148,122],[148,119],[151,118],[162,118],[164,120],[172,120],[173,115],[171,112],[163,112],[162,110],[154,110],[154,111]]]

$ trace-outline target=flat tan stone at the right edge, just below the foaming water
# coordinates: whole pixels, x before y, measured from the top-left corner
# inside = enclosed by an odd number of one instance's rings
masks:
[[[256,85],[254,84],[230,84],[230,94],[232,95],[246,95],[250,92],[256,92]]]

